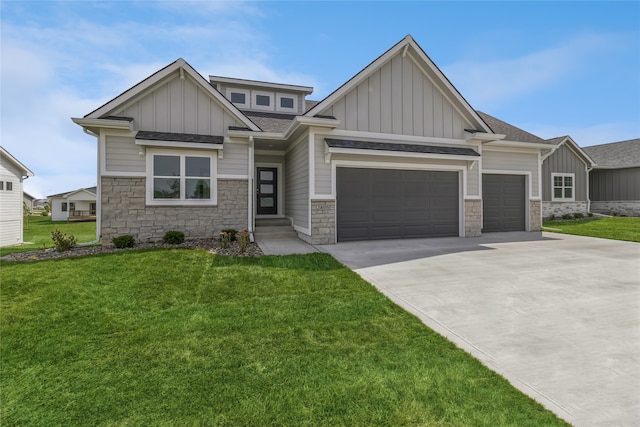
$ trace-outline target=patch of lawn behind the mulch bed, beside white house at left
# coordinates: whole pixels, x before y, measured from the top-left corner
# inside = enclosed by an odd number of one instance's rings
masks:
[[[51,221],[51,218],[46,216],[30,216],[28,219],[28,225],[23,232],[23,240],[27,244],[0,248],[0,256],[16,252],[52,248],[53,242],[51,241],[51,232],[56,228],[66,234],[73,234],[78,239],[78,243],[88,243],[96,240],[95,221]]]

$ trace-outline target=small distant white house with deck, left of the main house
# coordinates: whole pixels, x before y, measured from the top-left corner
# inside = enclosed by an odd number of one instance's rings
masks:
[[[80,188],[48,196],[53,221],[94,221],[97,187]]]

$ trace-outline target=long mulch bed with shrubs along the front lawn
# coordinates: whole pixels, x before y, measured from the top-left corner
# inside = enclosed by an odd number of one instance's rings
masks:
[[[228,248],[223,248],[220,241],[215,239],[189,239],[179,245],[166,243],[136,243],[133,248],[118,249],[113,246],[76,246],[70,251],[58,252],[55,249],[41,249],[36,251],[19,252],[2,257],[3,261],[41,261],[46,259],[67,258],[86,255],[98,255],[115,252],[135,251],[139,249],[205,249],[218,255],[260,257],[263,255],[260,247],[249,243],[246,251],[240,250],[238,242],[231,242]]]

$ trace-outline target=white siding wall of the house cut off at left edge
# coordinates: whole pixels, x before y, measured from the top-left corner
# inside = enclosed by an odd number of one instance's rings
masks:
[[[0,190],[0,246],[22,243],[22,171],[13,164],[0,163],[0,181],[4,189]],[[7,182],[13,189],[7,190]]]

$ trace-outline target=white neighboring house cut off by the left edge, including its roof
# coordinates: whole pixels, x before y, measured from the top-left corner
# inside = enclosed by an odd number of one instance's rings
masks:
[[[0,246],[23,243],[22,182],[33,172],[0,147]]]

